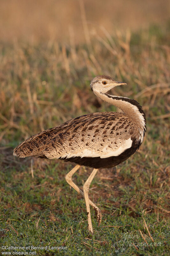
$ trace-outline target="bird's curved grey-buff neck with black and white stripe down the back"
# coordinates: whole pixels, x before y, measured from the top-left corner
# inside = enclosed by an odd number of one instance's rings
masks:
[[[109,95],[107,93],[94,92],[101,100],[120,108],[123,113],[130,117],[139,127],[141,132],[146,130],[146,117],[140,104],[136,100]],[[144,134],[143,134],[144,135]]]

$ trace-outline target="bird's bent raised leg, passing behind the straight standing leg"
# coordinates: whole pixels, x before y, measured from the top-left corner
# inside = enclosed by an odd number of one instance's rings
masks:
[[[82,195],[83,197],[84,196],[84,193],[83,191],[81,191],[78,186],[72,181],[72,176],[73,174],[78,170],[78,168],[80,167],[81,165],[77,164],[70,172],[68,172],[65,176],[65,179],[67,181],[67,183],[72,187],[74,188],[80,195]],[[100,209],[89,199],[89,204],[92,206],[92,208],[94,209],[95,211],[95,214],[97,216],[97,222],[98,224],[100,225],[101,223],[101,211]]]

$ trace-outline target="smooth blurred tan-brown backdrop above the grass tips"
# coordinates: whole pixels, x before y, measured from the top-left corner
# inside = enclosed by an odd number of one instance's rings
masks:
[[[8,0],[0,1],[1,41],[22,39],[29,42],[56,39],[84,42],[86,25],[91,37],[103,29],[132,31],[151,24],[165,26],[170,17],[169,0]],[[86,24],[85,24],[86,23]]]

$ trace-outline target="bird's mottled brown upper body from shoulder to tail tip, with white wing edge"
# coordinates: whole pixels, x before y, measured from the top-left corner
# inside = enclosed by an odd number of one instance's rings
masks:
[[[108,158],[130,148],[132,140],[138,147],[137,131],[137,125],[122,113],[92,113],[30,137],[14,149],[14,155],[72,162],[76,157]]]

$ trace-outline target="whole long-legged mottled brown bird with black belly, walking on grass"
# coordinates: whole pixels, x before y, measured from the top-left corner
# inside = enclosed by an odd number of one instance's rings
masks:
[[[114,167],[139,149],[146,131],[143,108],[133,99],[107,94],[115,86],[127,85],[106,75],[96,76],[90,83],[92,92],[101,100],[122,110],[96,112],[73,118],[59,126],[35,134],[18,145],[13,152],[18,157],[40,157],[70,161],[77,165],[65,180],[85,198],[88,230],[93,234],[90,205],[101,223],[101,211],[89,199],[90,184],[100,168]],[[83,185],[83,191],[72,176],[81,165],[93,168]]]

